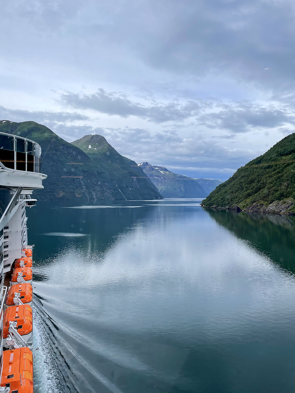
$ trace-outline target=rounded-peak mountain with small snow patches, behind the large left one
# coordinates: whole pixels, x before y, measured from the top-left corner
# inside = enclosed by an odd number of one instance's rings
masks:
[[[83,152],[98,163],[109,176],[114,179],[116,186],[126,199],[160,199],[156,187],[147,178],[136,171],[136,165],[132,160],[127,162],[127,158],[121,156],[101,135],[85,135],[83,138],[72,142],[72,145],[79,147]]]

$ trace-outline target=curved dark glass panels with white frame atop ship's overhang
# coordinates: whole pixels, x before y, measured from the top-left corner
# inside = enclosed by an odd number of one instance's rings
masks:
[[[5,169],[41,173],[40,158],[38,143],[0,132],[0,165]]]

